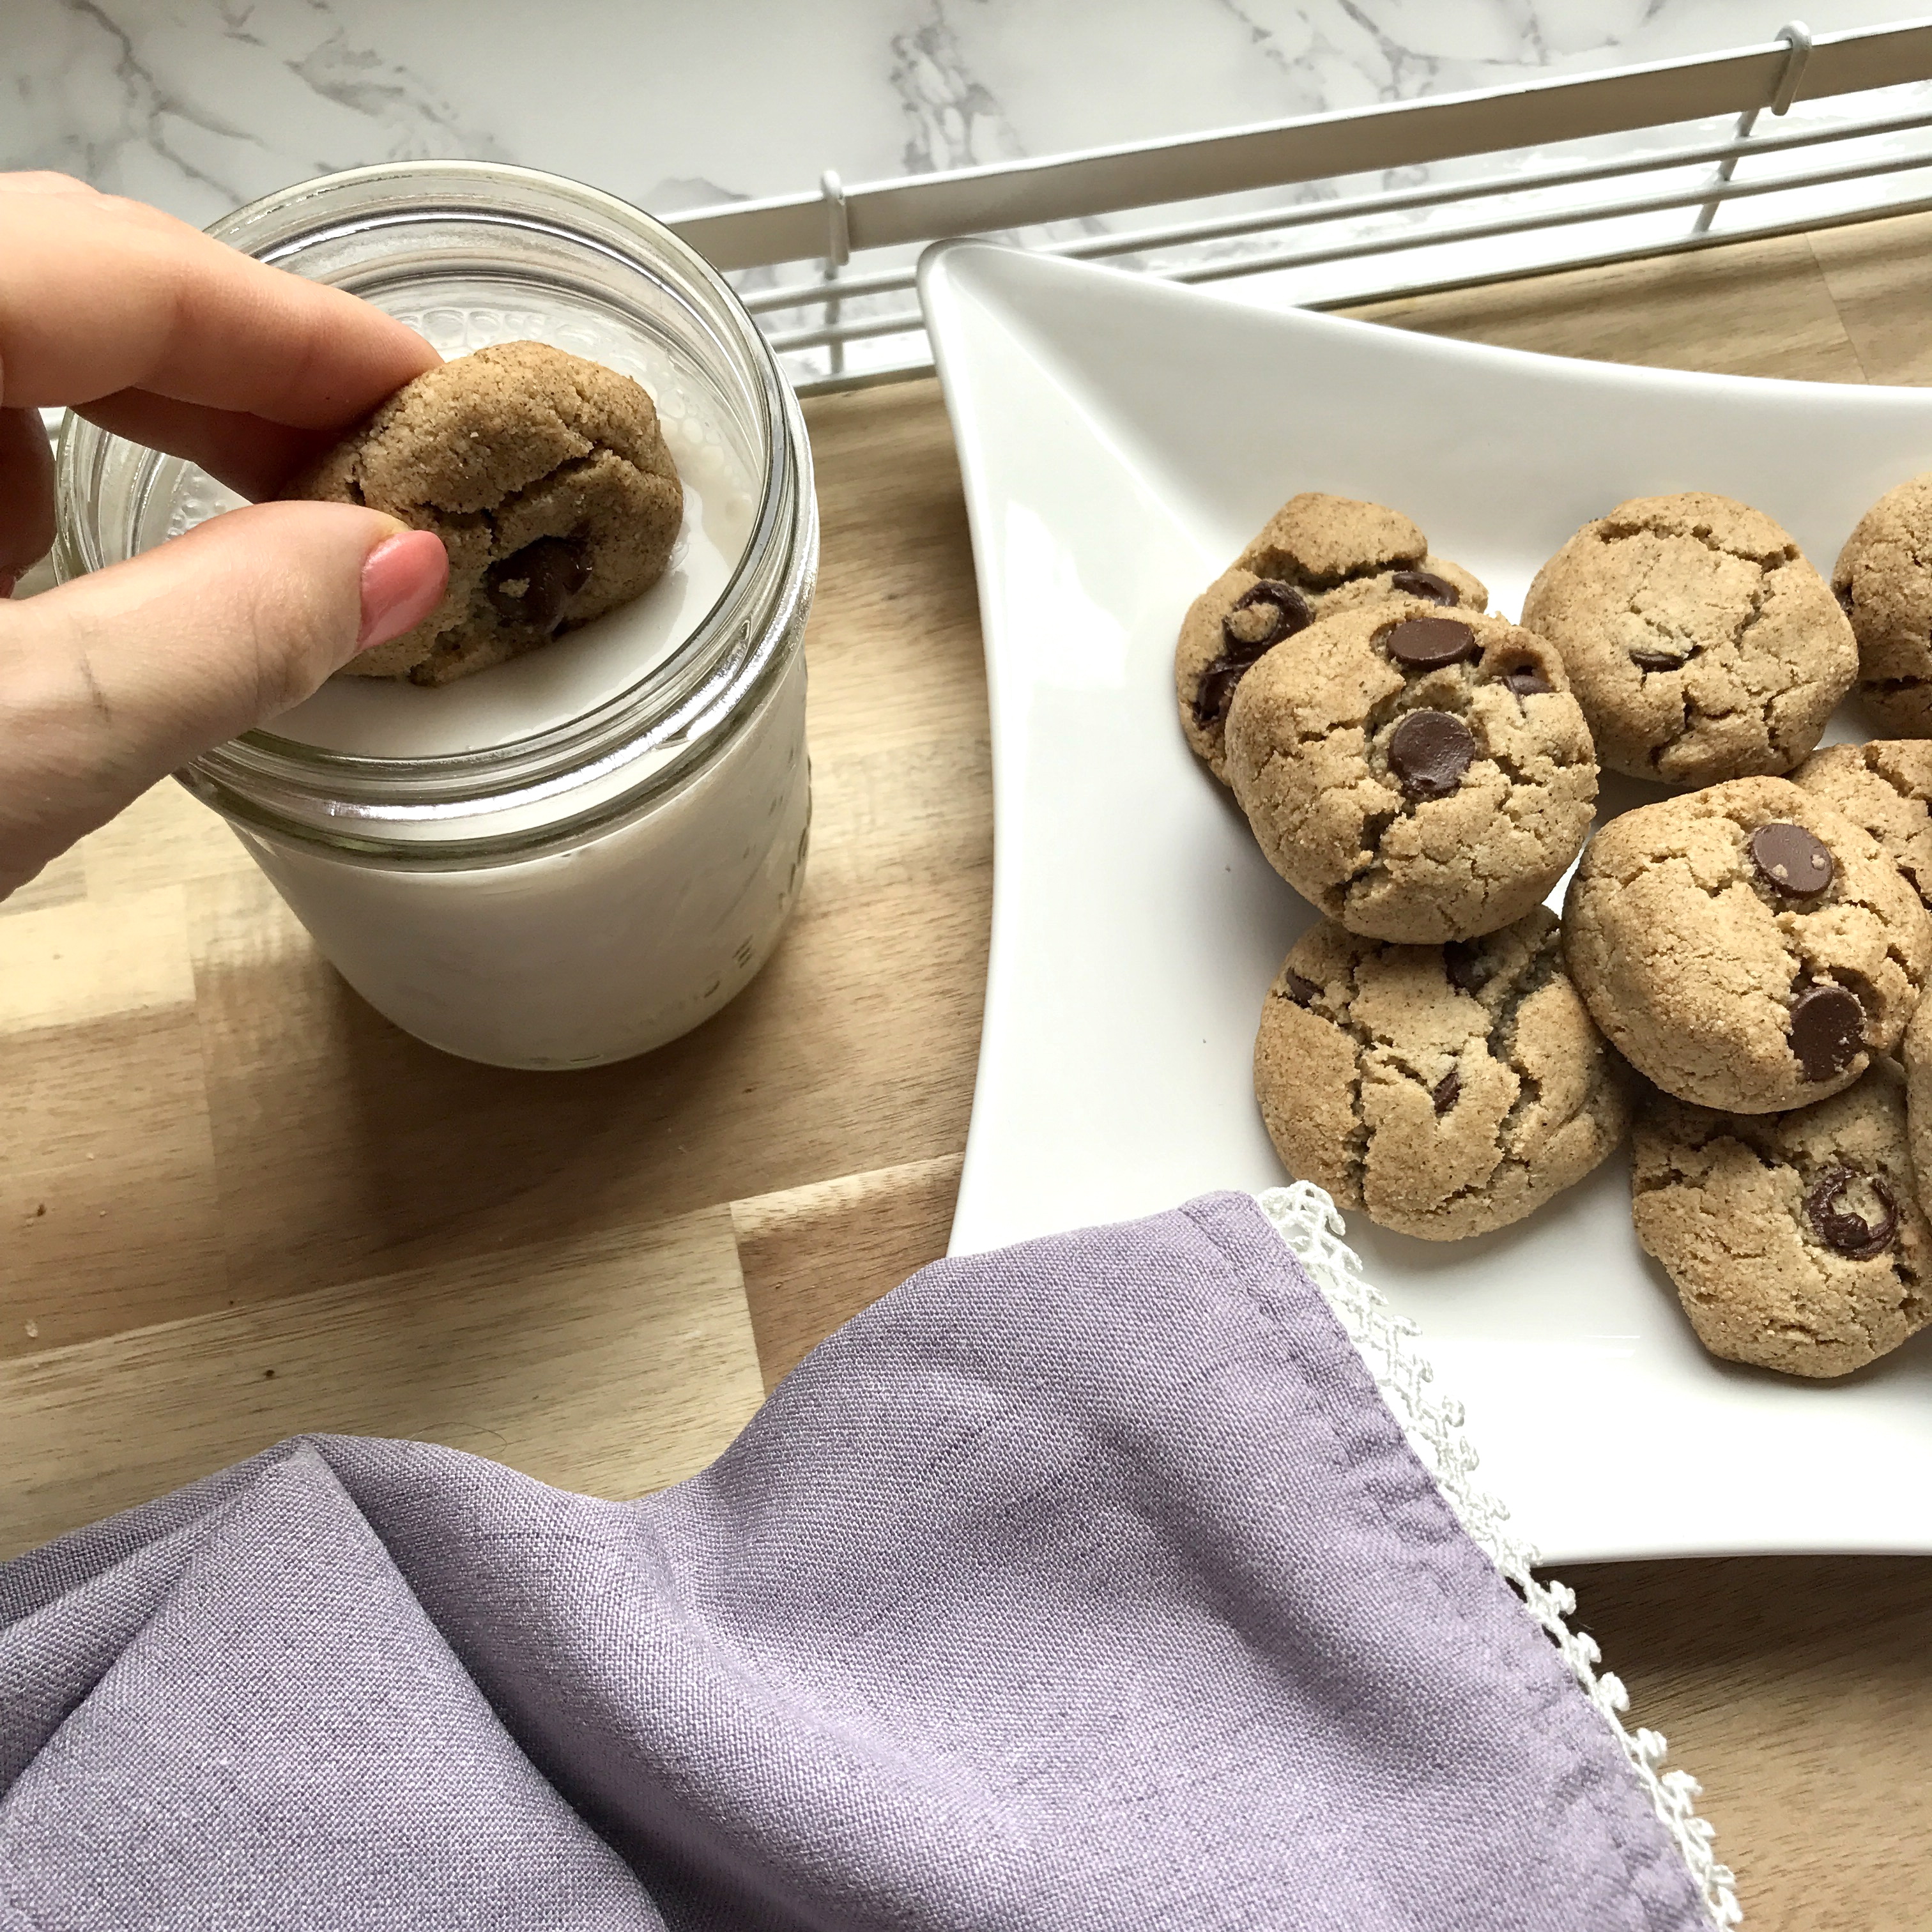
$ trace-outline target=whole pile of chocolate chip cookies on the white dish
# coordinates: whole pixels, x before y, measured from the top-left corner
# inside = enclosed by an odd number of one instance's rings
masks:
[[[1741,502],[1619,504],[1520,626],[1405,516],[1294,497],[1175,672],[1323,914],[1256,1037],[1291,1173],[1449,1240],[1634,1115],[1636,1233],[1716,1354],[1841,1376],[1932,1320],[1932,477],[1832,583]],[[1915,738],[1816,752],[1855,682]],[[1690,790],[1586,846],[1600,765]]]

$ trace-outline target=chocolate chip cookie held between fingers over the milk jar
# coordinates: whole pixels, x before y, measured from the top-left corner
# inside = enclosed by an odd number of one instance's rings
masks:
[[[400,388],[286,491],[433,529],[450,587],[338,676],[448,684],[647,591],[684,518],[649,392],[543,342],[502,342]]]

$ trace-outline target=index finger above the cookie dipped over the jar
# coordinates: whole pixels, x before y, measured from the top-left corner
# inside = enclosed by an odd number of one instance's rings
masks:
[[[440,361],[406,323],[79,182],[0,176],[0,406],[149,390],[340,429]]]

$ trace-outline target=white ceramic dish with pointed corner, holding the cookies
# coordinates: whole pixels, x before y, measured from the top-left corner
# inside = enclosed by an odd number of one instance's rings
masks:
[[[1522,355],[985,243],[931,251],[922,292],[997,813],[954,1252],[1285,1179],[1250,1053],[1312,914],[1188,755],[1171,682],[1188,599],[1285,497],[1395,504],[1515,614],[1623,497],[1741,497],[1830,568],[1872,498],[1932,468],[1932,392]],[[1548,1559],[1932,1551],[1932,1335],[1837,1385],[1712,1360],[1636,1246],[1621,1155],[1492,1236],[1362,1215],[1349,1236]]]

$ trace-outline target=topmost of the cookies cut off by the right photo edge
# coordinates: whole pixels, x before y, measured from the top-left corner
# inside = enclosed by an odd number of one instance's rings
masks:
[[[1859,518],[1832,589],[1859,639],[1864,701],[1886,730],[1932,736],[1932,471]]]

